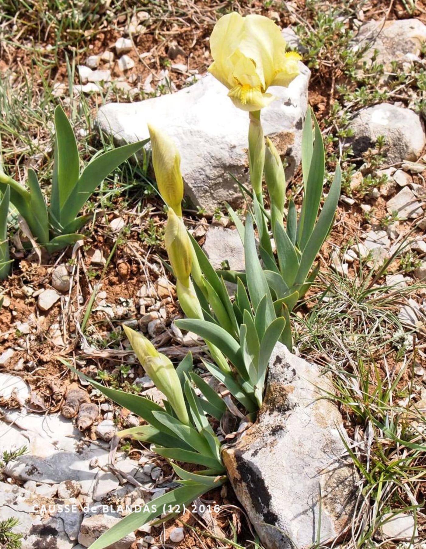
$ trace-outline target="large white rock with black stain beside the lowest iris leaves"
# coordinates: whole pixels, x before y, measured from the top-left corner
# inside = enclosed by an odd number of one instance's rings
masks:
[[[222,453],[237,497],[266,549],[315,545],[320,489],[321,543],[351,523],[356,484],[341,440],[345,429],[338,408],[318,400],[319,389],[331,387],[317,366],[277,344],[256,423]]]

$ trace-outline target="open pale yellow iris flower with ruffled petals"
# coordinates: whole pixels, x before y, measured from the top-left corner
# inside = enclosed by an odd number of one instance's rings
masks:
[[[285,53],[279,27],[263,15],[237,12],[221,17],[210,36],[209,72],[228,89],[234,105],[256,111],[275,98],[269,86],[284,86],[299,74],[300,55]]]

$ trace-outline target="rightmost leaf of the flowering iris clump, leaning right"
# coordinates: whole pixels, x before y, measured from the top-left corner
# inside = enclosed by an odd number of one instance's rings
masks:
[[[332,227],[334,214],[340,197],[340,186],[341,171],[340,166],[337,165],[330,192],[328,193],[326,202],[321,210],[321,214],[319,214],[317,224],[302,253],[299,271],[295,281],[297,284],[303,284],[305,282],[306,276],[315,261],[315,257]]]

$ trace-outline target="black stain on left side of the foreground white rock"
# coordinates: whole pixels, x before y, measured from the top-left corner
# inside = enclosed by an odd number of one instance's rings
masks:
[[[278,516],[270,509],[272,497],[265,484],[265,480],[253,468],[246,465],[242,452],[235,453],[237,470],[250,494],[250,501],[257,514],[264,518],[264,522],[273,526],[278,523]]]

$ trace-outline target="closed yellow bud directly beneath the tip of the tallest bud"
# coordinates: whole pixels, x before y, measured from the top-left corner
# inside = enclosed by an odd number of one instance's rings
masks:
[[[192,245],[182,219],[172,208],[167,212],[164,242],[175,277],[188,287],[192,268]]]

